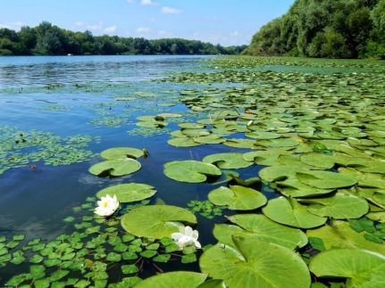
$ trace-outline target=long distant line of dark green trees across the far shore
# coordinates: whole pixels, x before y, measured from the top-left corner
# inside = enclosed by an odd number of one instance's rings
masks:
[[[180,38],[96,37],[90,31],[72,32],[46,21],[20,31],[0,29],[0,55],[237,54],[245,48]]]

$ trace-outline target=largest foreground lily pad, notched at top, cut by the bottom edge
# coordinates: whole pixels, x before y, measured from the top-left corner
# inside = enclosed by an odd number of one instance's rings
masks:
[[[234,236],[235,247],[216,244],[205,251],[203,273],[222,279],[228,287],[309,287],[305,262],[288,248]]]

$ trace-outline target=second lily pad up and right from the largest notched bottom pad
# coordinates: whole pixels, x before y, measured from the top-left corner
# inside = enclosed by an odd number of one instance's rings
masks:
[[[297,228],[314,228],[325,224],[327,218],[316,216],[307,211],[306,206],[293,198],[279,197],[270,200],[262,209],[272,221]]]

